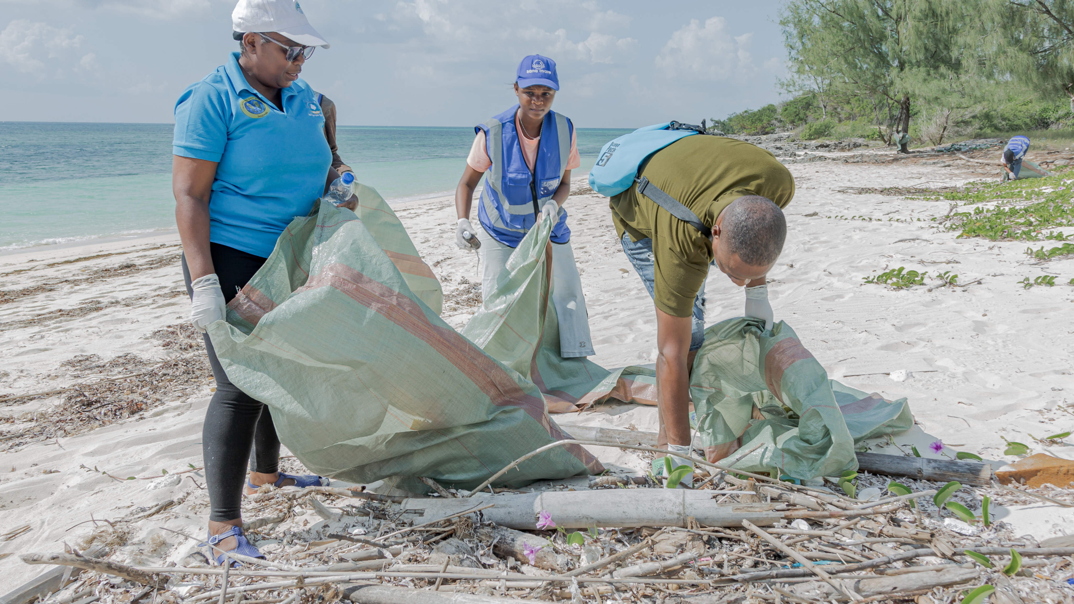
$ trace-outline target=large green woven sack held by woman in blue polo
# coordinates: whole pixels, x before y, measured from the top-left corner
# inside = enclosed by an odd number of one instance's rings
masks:
[[[280,442],[320,475],[423,492],[418,477],[473,488],[569,437],[537,387],[445,323],[379,240],[321,202],[209,326],[228,377],[268,405]],[[497,484],[603,470],[568,445]]]

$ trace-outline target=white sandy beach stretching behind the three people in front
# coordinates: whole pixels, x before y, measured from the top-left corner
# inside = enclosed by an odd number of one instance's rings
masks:
[[[1048,448],[1030,436],[1074,429],[1074,287],[1017,283],[1042,274],[1065,283],[1074,277],[1074,259],[1043,263],[1024,254],[1024,242],[956,239],[928,221],[948,212],[943,201],[838,192],[959,185],[996,171],[913,158],[788,168],[798,189],[786,210],[787,244],[770,274],[775,318],[797,331],[832,378],[909,399],[918,426],[895,443],[940,457],[927,448],[939,438],[952,457],[959,450],[1013,461],[1003,456],[1006,437],[1074,459],[1074,447]],[[575,188],[587,190],[581,178]],[[607,200],[579,193],[566,207],[597,350],[592,360],[606,368],[653,362],[653,305],[615,240]],[[475,255],[454,245],[453,201],[410,202],[396,212],[444,285],[445,319],[461,328],[475,310],[480,279]],[[874,220],[855,219],[861,216]],[[62,551],[63,543],[84,547],[95,526],[105,527],[101,519],[126,534],[113,559],[136,563],[178,562],[197,549],[195,541],[164,529],[204,535],[204,479],[198,471],[177,473],[202,466],[201,425],[213,379],[183,327],[189,301],[179,251],[178,236],[163,234],[0,255],[0,394],[151,372],[86,390],[101,403],[82,414],[64,407],[74,391],[0,400],[0,533],[31,528],[9,541],[0,536],[0,593],[43,570],[17,553]],[[899,267],[949,270],[966,286],[862,285],[863,276]],[[707,323],[742,314],[742,291],[722,274],[710,275],[706,292]],[[888,375],[900,370],[909,375],[903,382]],[[108,393],[126,411],[107,402]],[[656,430],[655,408],[638,405],[554,418]],[[96,427],[102,420],[106,425]],[[621,449],[593,450],[609,464],[639,471],[648,464]],[[297,466],[285,460],[285,469]],[[131,476],[137,479],[126,479]],[[139,517],[169,500],[177,504]],[[263,515],[256,502],[246,505],[247,519]],[[1013,523],[1015,534],[1042,540],[1074,533],[1071,509],[1008,505],[1000,519]],[[293,522],[317,520],[309,512]]]

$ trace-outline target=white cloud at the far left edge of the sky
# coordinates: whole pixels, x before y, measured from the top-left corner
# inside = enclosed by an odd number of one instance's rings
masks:
[[[72,33],[73,28],[58,29],[45,23],[15,19],[0,31],[0,60],[23,73],[42,73],[49,59],[58,60],[49,61],[52,64],[47,67],[62,69],[86,40]],[[87,56],[92,62],[92,54]]]

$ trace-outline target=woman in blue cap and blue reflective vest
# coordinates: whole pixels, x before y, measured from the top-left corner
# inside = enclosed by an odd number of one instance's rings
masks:
[[[455,189],[459,215],[455,244],[477,251],[481,293],[488,298],[507,258],[537,222],[541,213],[557,216],[552,229],[552,302],[560,323],[560,355],[593,355],[582,279],[570,248],[570,229],[563,202],[570,195],[570,171],[581,166],[575,126],[552,111],[560,89],[555,61],[531,55],[519,64],[514,94],[519,104],[474,130],[477,136],[466,170]],[[474,189],[481,175],[484,188],[478,206],[480,227],[469,221]],[[475,245],[477,241],[479,244]]]

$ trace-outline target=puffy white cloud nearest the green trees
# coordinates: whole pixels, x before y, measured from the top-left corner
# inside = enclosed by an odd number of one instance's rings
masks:
[[[656,67],[669,77],[690,76],[713,82],[727,81],[755,71],[753,56],[746,51],[752,33],[732,37],[727,20],[712,17],[702,26],[691,19],[671,34],[656,56]]]

